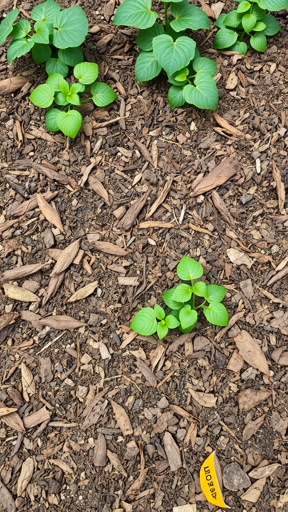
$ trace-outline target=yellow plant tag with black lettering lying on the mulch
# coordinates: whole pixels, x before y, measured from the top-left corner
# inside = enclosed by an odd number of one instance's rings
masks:
[[[212,452],[201,465],[200,485],[209,503],[213,503],[213,505],[221,508],[231,508],[226,505],[222,495],[221,468],[216,452]]]

